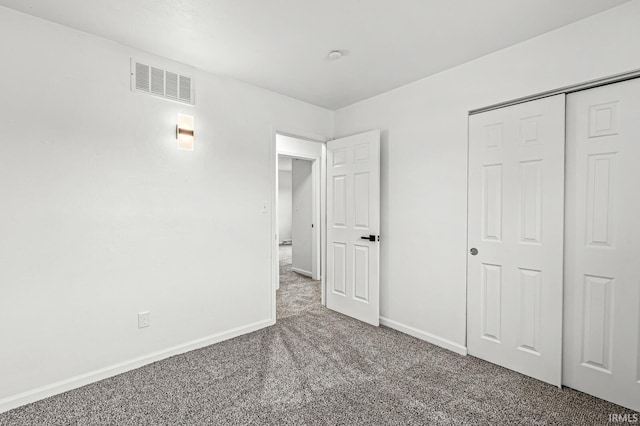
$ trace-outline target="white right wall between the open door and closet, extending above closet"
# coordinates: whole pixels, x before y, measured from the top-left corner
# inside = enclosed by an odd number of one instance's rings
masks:
[[[336,112],[336,137],[382,130],[384,323],[465,350],[467,113],[640,68],[640,2]]]

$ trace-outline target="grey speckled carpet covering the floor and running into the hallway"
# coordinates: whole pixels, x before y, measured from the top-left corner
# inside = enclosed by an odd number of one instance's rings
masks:
[[[0,425],[604,425],[632,413],[327,310],[286,249],[275,326],[0,414]]]

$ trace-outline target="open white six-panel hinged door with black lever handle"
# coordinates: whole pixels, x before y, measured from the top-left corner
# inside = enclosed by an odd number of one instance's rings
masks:
[[[376,326],[379,235],[380,131],[328,142],[327,307]]]

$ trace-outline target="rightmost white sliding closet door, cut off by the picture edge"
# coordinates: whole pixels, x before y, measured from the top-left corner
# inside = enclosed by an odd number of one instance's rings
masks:
[[[640,410],[640,80],[567,98],[563,383]]]

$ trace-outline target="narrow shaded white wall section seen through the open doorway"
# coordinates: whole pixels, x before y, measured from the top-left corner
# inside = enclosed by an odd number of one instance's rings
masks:
[[[292,268],[307,275],[312,273],[312,234],[313,229],[313,183],[311,165],[307,160],[294,158],[292,165],[292,204],[291,221]]]

